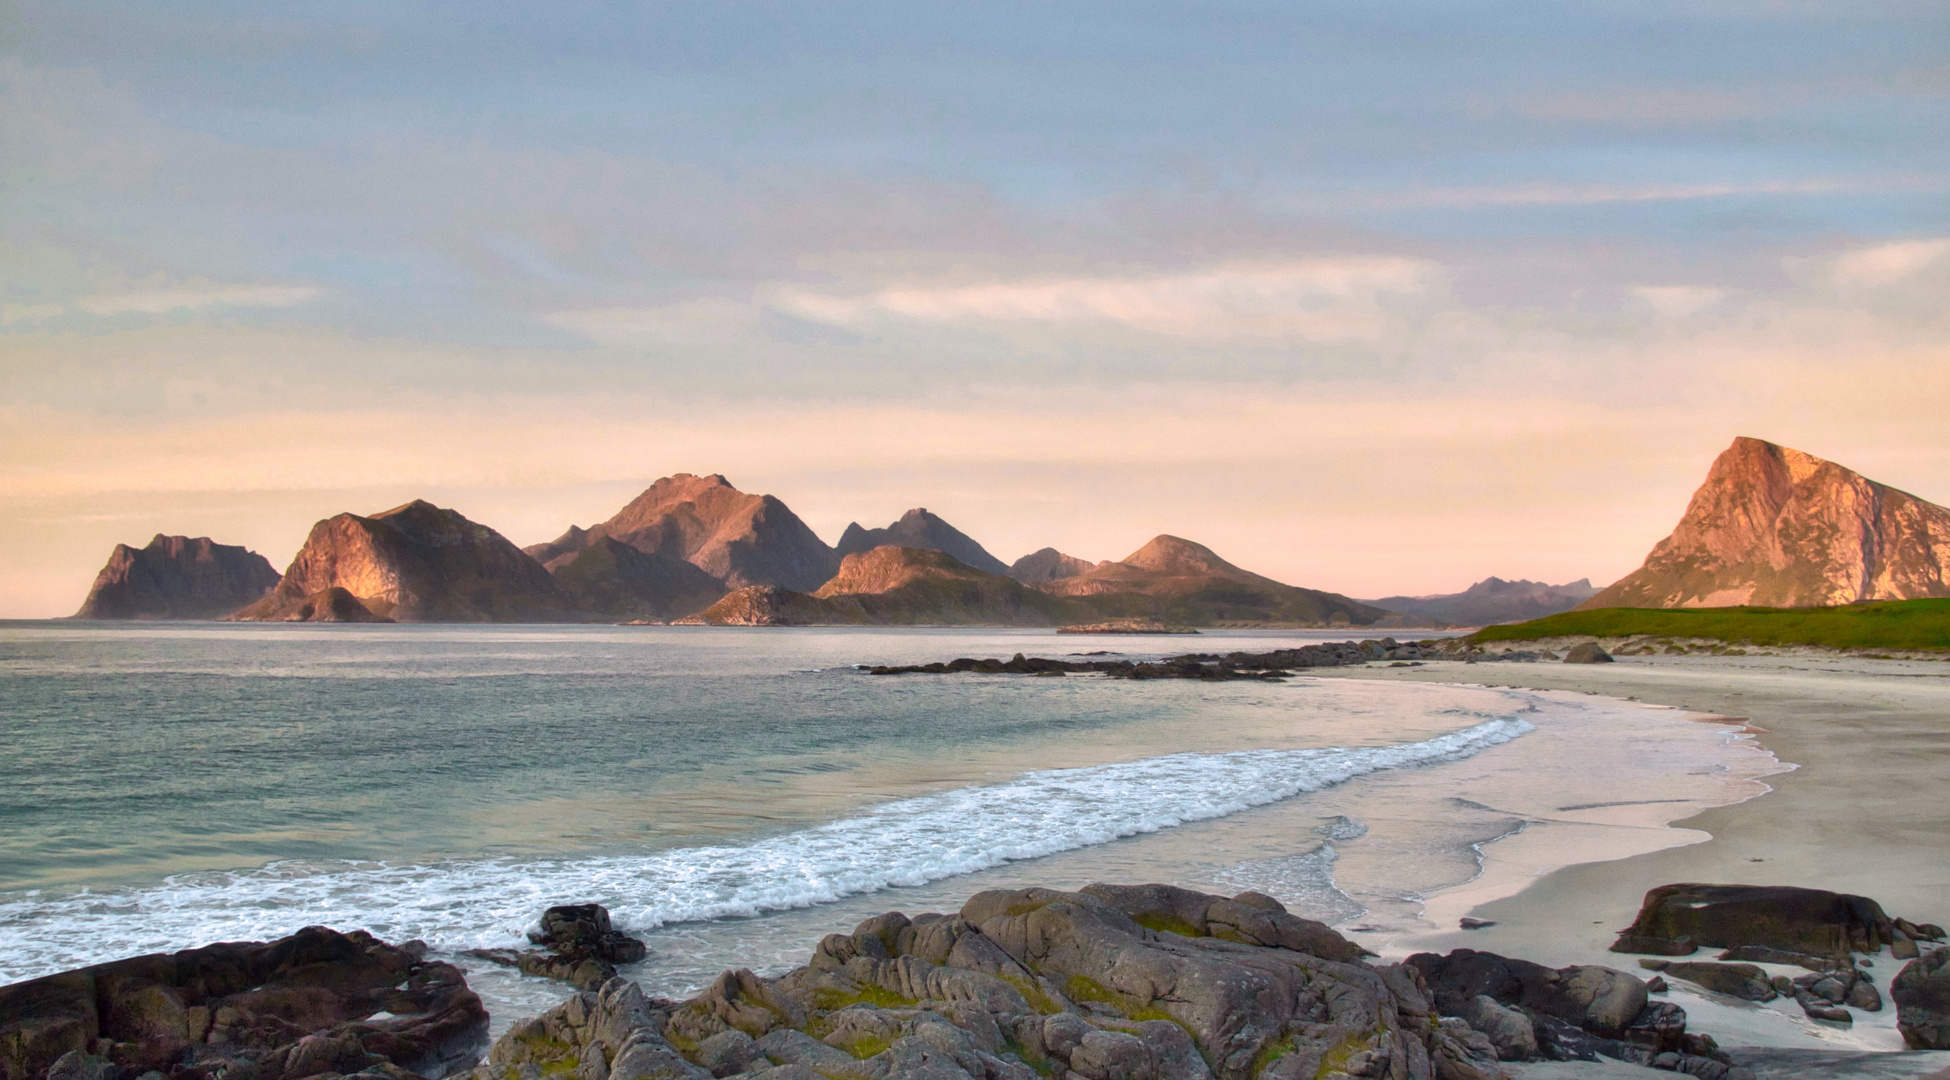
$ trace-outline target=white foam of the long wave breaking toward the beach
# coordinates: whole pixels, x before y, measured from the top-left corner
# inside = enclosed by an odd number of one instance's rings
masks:
[[[801,908],[1225,817],[1386,768],[1461,760],[1531,729],[1519,715],[1496,715],[1392,747],[1188,752],[1028,772],[743,846],[433,866],[283,862],[113,893],[16,893],[0,901],[0,983],[308,924],[462,949],[519,944],[556,903],[604,903],[634,930]]]

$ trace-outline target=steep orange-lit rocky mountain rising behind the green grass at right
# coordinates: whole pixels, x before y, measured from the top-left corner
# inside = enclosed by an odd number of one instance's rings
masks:
[[[1736,439],[1646,565],[1587,608],[1802,608],[1950,597],[1950,509]]]

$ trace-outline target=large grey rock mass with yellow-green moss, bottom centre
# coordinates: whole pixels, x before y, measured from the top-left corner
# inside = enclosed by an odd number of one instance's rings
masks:
[[[1371,967],[1260,893],[1168,885],[991,891],[954,914],[829,934],[778,979],[688,1002],[626,983],[517,1025],[478,1080],[1488,1080],[1496,1051],[1437,1023],[1418,973]]]

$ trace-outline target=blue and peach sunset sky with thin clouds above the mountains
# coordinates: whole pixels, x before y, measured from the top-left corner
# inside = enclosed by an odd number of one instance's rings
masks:
[[[0,0],[0,618],[722,472],[825,540],[1634,569],[1950,503],[1950,6]]]

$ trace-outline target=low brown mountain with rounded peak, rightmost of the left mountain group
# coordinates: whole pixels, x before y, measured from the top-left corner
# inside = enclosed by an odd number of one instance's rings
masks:
[[[1369,626],[1388,612],[1336,593],[1297,589],[1244,571],[1191,540],[1158,536],[1123,561],[1035,585],[1072,597],[1110,618],[1154,618],[1180,626],[1281,622]]]

